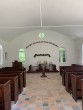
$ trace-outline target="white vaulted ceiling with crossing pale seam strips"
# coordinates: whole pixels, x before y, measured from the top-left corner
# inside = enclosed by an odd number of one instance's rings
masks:
[[[0,38],[41,28],[83,37],[83,0],[0,0]]]

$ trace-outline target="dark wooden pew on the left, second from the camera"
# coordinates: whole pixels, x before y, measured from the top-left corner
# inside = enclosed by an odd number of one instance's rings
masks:
[[[18,76],[0,75],[0,80],[11,81],[11,101],[16,103],[18,100]]]

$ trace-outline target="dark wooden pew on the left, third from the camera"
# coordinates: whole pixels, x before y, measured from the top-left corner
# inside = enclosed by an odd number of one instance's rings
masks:
[[[23,74],[22,72],[21,73],[16,73],[16,72],[0,72],[0,74],[9,74],[9,75],[12,75],[12,76],[15,76],[17,75],[18,76],[18,87],[19,87],[19,94],[23,91]]]

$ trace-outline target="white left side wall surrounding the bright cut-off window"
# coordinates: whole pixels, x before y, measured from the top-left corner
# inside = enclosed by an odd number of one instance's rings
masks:
[[[2,48],[3,48],[3,64],[1,65],[0,64],[0,68],[1,67],[4,67],[4,66],[7,66],[7,59],[5,59],[5,52],[8,52],[8,42],[6,42],[6,41],[4,41],[4,40],[2,40],[2,39],[0,39],[0,45],[2,45]]]

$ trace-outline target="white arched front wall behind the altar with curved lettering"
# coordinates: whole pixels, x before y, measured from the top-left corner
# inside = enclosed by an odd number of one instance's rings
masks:
[[[45,38],[40,39],[38,37],[38,34],[40,32],[45,33]],[[26,49],[26,46],[28,46],[30,43],[37,42],[37,41],[48,41],[55,43],[59,47],[53,46],[51,44],[46,43],[37,43],[29,48]],[[59,63],[59,48],[64,47],[66,49],[66,62],[65,63]],[[8,46],[8,65],[11,66],[11,62],[14,60],[18,60],[18,50],[20,48],[24,48],[26,50],[26,62],[25,67],[28,67],[28,65],[37,65],[38,61],[43,62],[44,60],[49,62],[53,62],[56,64],[57,68],[59,68],[59,65],[70,65],[72,63],[76,63],[76,56],[75,56],[75,43],[72,39],[61,35],[54,31],[48,31],[48,30],[37,30],[33,32],[25,33],[19,37],[17,37],[15,40],[10,42]],[[40,56],[34,58],[34,54],[50,54],[51,57],[48,56]]]

